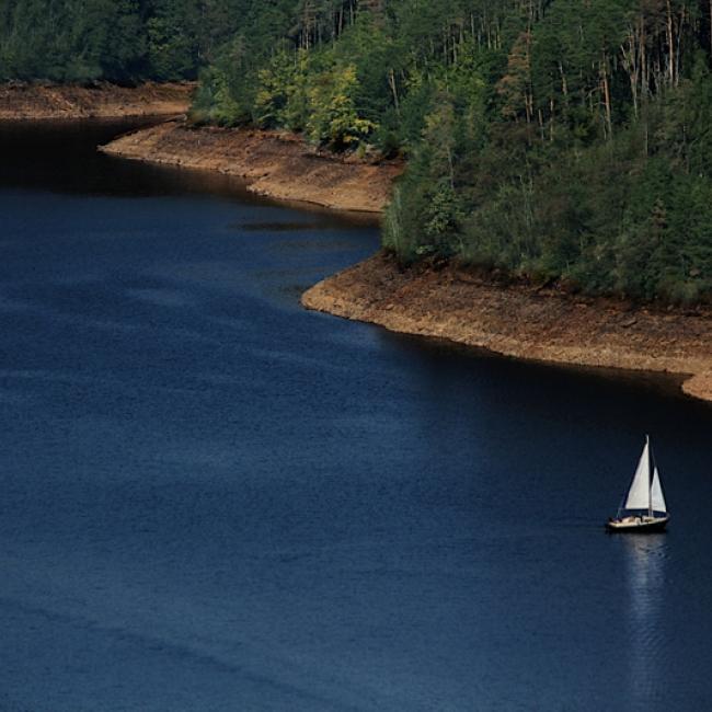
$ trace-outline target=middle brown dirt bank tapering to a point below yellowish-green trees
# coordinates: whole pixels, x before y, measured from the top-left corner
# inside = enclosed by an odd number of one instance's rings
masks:
[[[256,129],[195,128],[170,122],[123,136],[106,153],[237,175],[249,188],[283,200],[341,210],[379,213],[403,165],[342,159],[309,148],[291,134]]]

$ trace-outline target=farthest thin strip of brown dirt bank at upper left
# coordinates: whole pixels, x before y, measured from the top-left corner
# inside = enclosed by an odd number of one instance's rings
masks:
[[[122,118],[183,114],[194,84],[147,83],[134,89],[100,83],[94,87],[39,84],[0,85],[0,119]]]

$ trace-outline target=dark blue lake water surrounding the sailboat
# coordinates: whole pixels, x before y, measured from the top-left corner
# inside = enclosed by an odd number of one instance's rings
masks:
[[[377,229],[123,128],[0,128],[0,710],[712,707],[711,407],[305,312]]]

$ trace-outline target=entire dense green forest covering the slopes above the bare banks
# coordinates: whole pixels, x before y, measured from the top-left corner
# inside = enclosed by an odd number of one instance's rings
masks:
[[[197,123],[406,157],[383,229],[404,264],[712,298],[712,0],[0,8],[0,78],[199,74]]]

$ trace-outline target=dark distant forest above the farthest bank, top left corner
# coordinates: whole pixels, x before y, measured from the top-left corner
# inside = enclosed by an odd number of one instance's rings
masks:
[[[195,79],[244,0],[0,0],[0,81]]]

